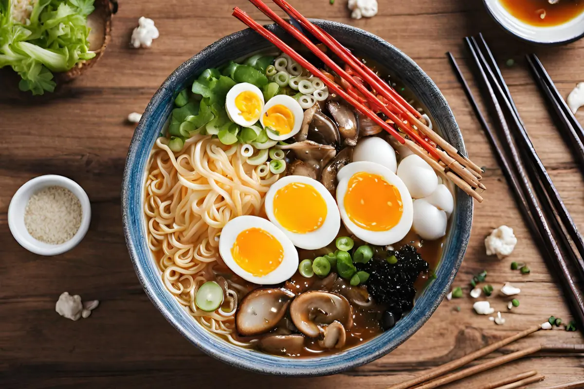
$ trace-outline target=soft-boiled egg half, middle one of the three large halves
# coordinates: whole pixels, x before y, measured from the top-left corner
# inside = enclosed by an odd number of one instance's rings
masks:
[[[296,247],[315,250],[331,243],[340,228],[339,209],[325,186],[310,177],[286,176],[272,184],[265,207]]]

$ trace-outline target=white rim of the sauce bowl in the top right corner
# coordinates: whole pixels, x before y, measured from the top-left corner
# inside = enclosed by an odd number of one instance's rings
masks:
[[[503,29],[531,43],[563,44],[584,37],[584,13],[557,26],[538,27],[522,22],[511,15],[499,0],[483,0],[483,2],[493,19]]]

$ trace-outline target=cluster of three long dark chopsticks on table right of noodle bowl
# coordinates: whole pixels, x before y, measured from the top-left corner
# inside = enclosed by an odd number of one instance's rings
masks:
[[[495,111],[495,119],[499,124],[500,135],[502,136],[501,143],[505,148],[499,145],[496,139],[497,136],[486,123],[484,115],[478,108],[454,57],[449,54],[451,64],[453,64],[454,71],[457,73],[458,79],[471,101],[482,127],[485,129],[485,134],[515,194],[523,218],[534,240],[543,243],[541,245],[538,244],[541,254],[560,279],[564,294],[568,298],[568,305],[572,315],[578,321],[579,328],[583,328],[584,298],[576,286],[575,277],[571,274],[564,254],[562,254],[562,251],[564,251],[568,255],[572,264],[578,268],[578,275],[581,281],[584,281],[584,262],[582,261],[584,244],[582,243],[582,237],[578,233],[554,184],[551,182],[547,171],[545,171],[543,163],[541,163],[531,144],[523,122],[519,117],[517,107],[513,103],[509,89],[486,41],[482,36],[479,36],[478,39],[481,41],[482,47],[479,47],[475,38],[465,38],[465,43],[471,52],[473,62],[477,66],[479,79],[481,79],[484,86],[485,98],[492,104]],[[507,121],[507,118],[509,118],[509,121]],[[513,135],[510,128],[513,128]],[[517,149],[520,149],[520,151]],[[555,236],[558,237],[559,244],[556,242],[552,230]]]

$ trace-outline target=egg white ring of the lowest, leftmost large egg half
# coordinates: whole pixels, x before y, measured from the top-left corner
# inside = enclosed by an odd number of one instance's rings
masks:
[[[231,248],[239,233],[250,228],[262,229],[274,236],[284,250],[284,258],[279,267],[272,272],[263,275],[255,276],[241,268],[235,262],[231,255]],[[219,254],[228,268],[235,274],[245,279],[246,281],[257,283],[259,285],[273,285],[274,283],[284,282],[296,273],[298,269],[298,251],[294,244],[281,232],[276,226],[269,222],[269,220],[259,218],[258,216],[238,216],[230,220],[223,230],[219,238]]]

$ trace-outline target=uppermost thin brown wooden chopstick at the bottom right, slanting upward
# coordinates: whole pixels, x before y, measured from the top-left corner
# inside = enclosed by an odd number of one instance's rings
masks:
[[[515,342],[517,339],[521,339],[526,337],[529,334],[533,334],[533,332],[536,332],[538,330],[540,330],[541,326],[537,325],[535,327],[531,327],[531,328],[527,328],[527,330],[524,330],[522,332],[518,332],[517,334],[509,337],[509,338],[505,338],[502,339],[498,342],[493,343],[492,345],[488,345],[485,346],[482,349],[479,349],[477,351],[471,352],[470,354],[467,354],[461,358],[458,358],[456,360],[453,360],[451,362],[448,363],[444,363],[444,365],[439,366],[439,367],[435,367],[434,369],[431,369],[425,373],[420,374],[417,377],[414,377],[413,379],[404,381],[402,383],[399,384],[395,384],[392,385],[390,387],[388,387],[387,389],[406,389],[418,384],[421,384],[425,381],[434,379],[436,377],[442,376],[443,374],[449,373],[453,370],[458,369],[458,367],[462,367],[464,365],[466,365],[469,362],[472,362],[475,359],[481,358],[482,356],[488,355],[490,353],[492,353],[493,351],[502,348],[503,346],[506,346],[512,342]]]

